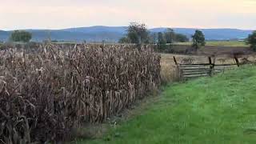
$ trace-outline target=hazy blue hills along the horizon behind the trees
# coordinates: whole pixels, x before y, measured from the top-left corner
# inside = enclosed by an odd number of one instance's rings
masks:
[[[67,42],[118,42],[126,34],[126,26],[90,26],[78,27],[62,30],[27,30],[33,34],[33,41],[42,42],[47,38],[58,41]],[[165,27],[150,29],[150,32],[163,32]],[[190,28],[174,28],[179,34],[186,34],[190,38],[194,34],[194,30]],[[252,30],[238,29],[202,29],[207,40],[229,40],[246,38]],[[0,41],[7,41],[12,31],[0,30]]]

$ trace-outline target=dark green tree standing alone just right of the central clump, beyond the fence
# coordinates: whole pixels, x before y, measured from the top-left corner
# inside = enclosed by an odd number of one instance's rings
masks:
[[[193,44],[192,47],[195,49],[200,48],[201,46],[206,46],[206,38],[201,30],[195,30],[194,35],[192,35]]]

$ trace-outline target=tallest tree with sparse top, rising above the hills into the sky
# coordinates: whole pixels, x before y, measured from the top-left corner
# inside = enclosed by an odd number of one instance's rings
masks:
[[[130,23],[127,30],[127,38],[131,43],[143,44],[149,41],[149,31],[146,29],[145,24],[139,24],[136,22]]]

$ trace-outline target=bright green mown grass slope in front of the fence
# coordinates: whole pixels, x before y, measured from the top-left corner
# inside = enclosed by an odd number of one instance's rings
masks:
[[[77,143],[256,143],[255,69],[167,86],[143,114]]]

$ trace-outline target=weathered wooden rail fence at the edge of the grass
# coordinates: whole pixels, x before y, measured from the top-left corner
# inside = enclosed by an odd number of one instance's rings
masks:
[[[178,63],[174,57],[175,65],[177,66],[178,78],[197,78],[203,76],[212,76],[213,74],[218,74],[226,69],[230,69],[232,66],[241,66],[238,58],[234,57],[235,64],[215,64],[215,58],[208,58],[208,63]]]

